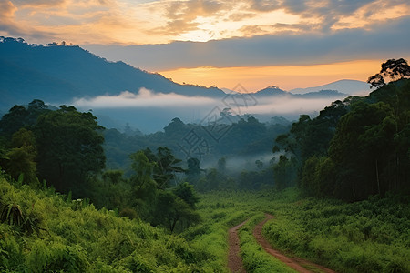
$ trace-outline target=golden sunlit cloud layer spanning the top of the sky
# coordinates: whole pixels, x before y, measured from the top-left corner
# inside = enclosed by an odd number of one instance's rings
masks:
[[[6,24],[0,23],[0,35],[25,34],[29,42],[43,44],[147,45],[314,31],[327,35],[337,29],[374,29],[374,24],[410,13],[406,0],[1,1],[18,13],[2,20]]]

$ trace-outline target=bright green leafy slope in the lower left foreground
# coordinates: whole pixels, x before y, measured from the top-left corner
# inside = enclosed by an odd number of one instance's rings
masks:
[[[209,249],[169,236],[165,229],[141,220],[118,217],[105,208],[97,210],[87,202],[77,209],[77,200],[53,190],[14,186],[0,177],[0,203],[12,204],[5,206],[5,212],[14,207],[20,224],[36,215],[42,228],[38,235],[23,232],[15,226],[10,210],[7,220],[0,223],[2,272],[220,271],[208,260],[212,257]]]

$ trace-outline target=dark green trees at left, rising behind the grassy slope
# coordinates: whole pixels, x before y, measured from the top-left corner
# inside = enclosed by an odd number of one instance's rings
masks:
[[[95,116],[74,106],[51,108],[41,100],[14,106],[0,120],[0,167],[15,181],[88,198],[98,208],[170,232],[199,221],[193,187],[171,183],[185,169],[169,148],[131,152],[131,171],[124,177],[122,170],[105,169],[103,131]]]

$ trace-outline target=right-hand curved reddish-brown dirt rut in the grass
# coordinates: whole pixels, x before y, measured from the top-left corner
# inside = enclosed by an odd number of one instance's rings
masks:
[[[325,268],[321,265],[314,264],[313,262],[310,262],[308,260],[305,260],[303,258],[290,258],[285,255],[283,255],[281,252],[278,250],[272,248],[272,246],[269,244],[269,242],[262,237],[261,235],[261,230],[263,225],[267,221],[273,218],[272,215],[270,214],[265,214],[266,218],[259,223],[255,229],[253,230],[253,236],[256,238],[258,243],[262,246],[263,249],[265,249],[266,252],[271,254],[273,257],[278,258],[281,260],[283,263],[288,265],[290,268],[295,269],[298,272],[302,273],[309,273],[309,272],[325,272],[325,273],[335,273],[332,269]],[[231,245],[230,245],[231,246]],[[309,270],[308,268],[312,268]]]

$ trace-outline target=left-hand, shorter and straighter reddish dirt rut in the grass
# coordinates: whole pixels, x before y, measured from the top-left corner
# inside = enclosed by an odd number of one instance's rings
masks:
[[[248,220],[239,224],[236,227],[232,227],[228,231],[228,244],[230,248],[229,253],[228,253],[228,268],[230,268],[231,272],[234,272],[234,273],[246,272],[242,264],[240,240],[238,237],[238,229],[242,227],[247,221]]]

